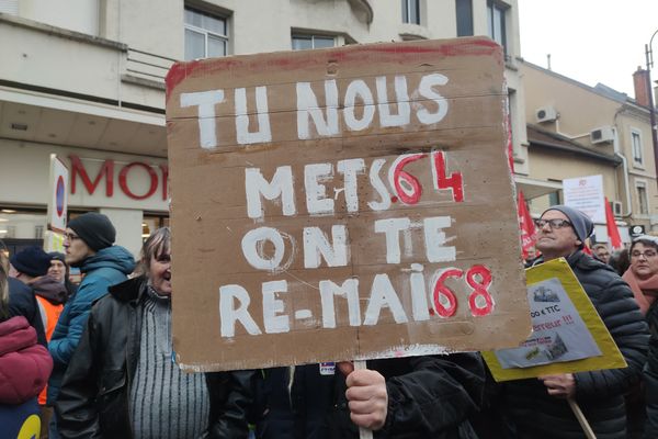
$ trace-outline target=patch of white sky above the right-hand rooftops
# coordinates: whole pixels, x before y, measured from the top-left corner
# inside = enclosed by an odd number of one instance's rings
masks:
[[[519,0],[521,56],[594,87],[635,97],[633,72],[658,31],[658,0]],[[658,35],[651,79],[658,79]]]

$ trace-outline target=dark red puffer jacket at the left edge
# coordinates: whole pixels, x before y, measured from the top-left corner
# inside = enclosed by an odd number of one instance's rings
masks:
[[[48,381],[53,360],[36,342],[36,331],[23,316],[0,323],[0,405],[35,397]]]

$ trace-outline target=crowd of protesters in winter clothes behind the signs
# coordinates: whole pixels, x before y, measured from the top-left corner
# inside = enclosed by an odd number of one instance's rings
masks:
[[[599,439],[658,438],[658,238],[590,252],[592,222],[565,205],[536,226],[529,266],[566,259],[625,368],[497,383],[478,352],[463,352],[360,370],[184,373],[172,349],[169,228],[135,261],[106,216],[80,215],[65,254],[0,251],[0,439],[338,439],[360,427],[375,438],[586,438],[572,403]]]

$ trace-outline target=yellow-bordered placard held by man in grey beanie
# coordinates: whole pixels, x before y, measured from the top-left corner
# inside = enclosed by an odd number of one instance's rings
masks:
[[[483,353],[496,381],[626,367],[564,258],[527,269],[526,279],[533,334],[519,348]]]

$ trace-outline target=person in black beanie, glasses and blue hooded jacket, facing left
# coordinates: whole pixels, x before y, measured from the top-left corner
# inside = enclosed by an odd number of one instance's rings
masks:
[[[64,234],[66,262],[84,274],[78,291],[66,303],[48,350],[54,360],[48,382],[48,405],[54,405],[61,380],[68,368],[80,337],[87,327],[91,305],[107,294],[107,289],[127,279],[135,268],[133,255],[124,247],[115,246],[116,230],[107,216],[88,212],[68,223]],[[57,418],[53,416],[49,437],[59,438]]]

